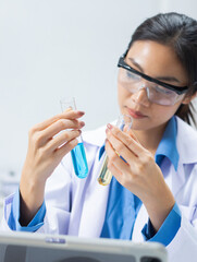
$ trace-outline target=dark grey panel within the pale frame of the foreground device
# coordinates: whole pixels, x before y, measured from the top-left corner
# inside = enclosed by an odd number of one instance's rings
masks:
[[[0,246],[0,262],[136,262],[131,254],[113,254],[90,251],[60,250],[16,245]],[[157,258],[144,257],[140,262],[161,262]]]

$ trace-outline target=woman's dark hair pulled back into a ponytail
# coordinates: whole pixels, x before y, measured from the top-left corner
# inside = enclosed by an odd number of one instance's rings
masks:
[[[136,40],[153,40],[173,48],[188,76],[187,95],[197,92],[197,21],[184,14],[160,13],[147,19],[134,32],[128,49]],[[127,50],[128,50],[127,49]],[[192,102],[182,104],[176,116],[187,123],[195,121],[195,108]]]

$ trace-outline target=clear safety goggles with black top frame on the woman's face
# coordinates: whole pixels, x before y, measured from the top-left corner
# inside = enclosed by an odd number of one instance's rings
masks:
[[[167,84],[141,73],[130,67],[124,61],[125,55],[119,59],[118,67],[120,70],[118,81],[127,91],[131,93],[136,93],[139,90],[145,88],[149,102],[163,106],[172,106],[183,98],[184,94],[188,90],[188,86],[181,87]]]

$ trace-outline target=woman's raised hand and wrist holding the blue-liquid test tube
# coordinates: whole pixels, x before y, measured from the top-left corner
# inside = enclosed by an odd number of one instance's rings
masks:
[[[66,110],[29,131],[28,151],[22,171],[21,224],[26,225],[44,202],[47,178],[52,174],[64,155],[77,145],[81,128],[78,119],[83,111]]]

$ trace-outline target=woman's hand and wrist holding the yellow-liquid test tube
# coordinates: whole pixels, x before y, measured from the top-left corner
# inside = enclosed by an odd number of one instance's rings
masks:
[[[111,124],[107,129],[106,151],[109,170],[143,201],[152,226],[158,230],[175,201],[153,155],[140,145],[132,131],[123,132]]]

